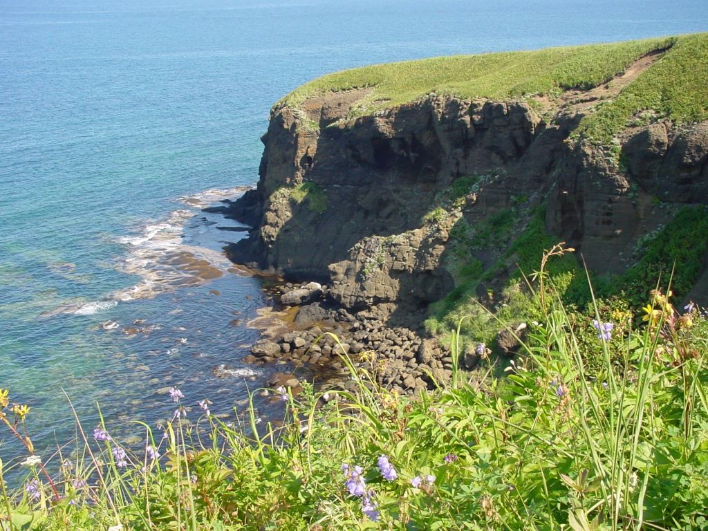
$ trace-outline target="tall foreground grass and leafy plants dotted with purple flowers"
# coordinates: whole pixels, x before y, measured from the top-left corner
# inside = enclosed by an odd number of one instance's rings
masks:
[[[411,398],[379,387],[379,361],[343,358],[353,388],[285,391],[277,425],[256,423],[251,404],[236,425],[202,415],[198,437],[190,413],[167,423],[161,442],[145,426],[125,467],[120,441],[88,430],[62,447],[60,469],[42,456],[58,469],[49,479],[24,468],[17,490],[1,478],[18,464],[0,462],[0,529],[707,530],[708,322],[694,310],[689,326],[657,298],[655,321],[616,323],[603,341],[589,321],[612,314],[593,305],[574,321],[555,295],[530,326],[527,355],[500,378],[492,365],[469,380],[456,370]],[[578,341],[586,333],[603,353],[593,370]],[[16,423],[13,397],[0,398],[5,426],[32,433],[32,413]],[[191,396],[175,405],[197,409]],[[384,478],[381,456],[395,477]],[[342,464],[362,467],[368,506]]]

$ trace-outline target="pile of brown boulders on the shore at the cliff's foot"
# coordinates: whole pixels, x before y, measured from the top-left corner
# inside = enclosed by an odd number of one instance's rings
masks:
[[[437,339],[427,337],[422,329],[391,327],[370,316],[351,314],[331,299],[326,285],[287,282],[273,295],[278,304],[298,308],[292,330],[259,340],[246,362],[321,368],[327,383],[341,389],[352,384],[343,378],[347,369],[342,355],[366,367],[379,384],[401,393],[433,389],[452,377],[450,349]],[[280,375],[269,383],[287,386],[290,376]]]

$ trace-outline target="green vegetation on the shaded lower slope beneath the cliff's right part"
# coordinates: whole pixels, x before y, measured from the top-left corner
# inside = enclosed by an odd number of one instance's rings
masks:
[[[503,227],[503,223],[497,221],[492,227]],[[479,229],[483,236],[487,233],[486,225]],[[656,282],[663,290],[668,289],[670,283],[675,297],[682,299],[695,285],[702,271],[703,259],[708,251],[708,242],[702,237],[706,232],[708,207],[681,208],[666,226],[639,242],[634,256],[636,263],[626,272],[621,275],[589,272],[598,304],[608,313],[622,314],[628,306],[641,306],[649,297],[649,291],[656,287]],[[464,219],[453,227],[450,238],[446,267],[455,279],[455,288],[430,305],[430,316],[426,320],[426,329],[430,333],[444,337],[464,317],[460,329],[463,344],[478,341],[492,343],[503,326],[539,319],[542,309],[538,299],[528,289],[526,279],[534,275],[544,253],[558,243],[554,236],[545,231],[542,209],[532,216],[498,263],[486,270],[470,254],[477,240],[472,227]],[[484,241],[489,247],[493,239],[487,236]],[[509,263],[513,267],[507,272],[506,264]],[[465,265],[468,267],[465,268]],[[578,315],[586,314],[593,303],[593,294],[588,288],[586,272],[576,256],[573,253],[554,256],[545,270],[547,285],[561,298],[570,319],[576,320]],[[461,274],[462,271],[467,274]],[[496,294],[496,299],[503,300],[503,304],[490,313],[479,305],[477,287],[480,282],[489,283],[495,279],[496,282],[503,282],[503,287]],[[538,289],[535,283],[534,287]],[[586,336],[581,334],[580,338],[585,342],[583,346],[588,353],[586,362],[596,366],[600,353],[587,345]]]

